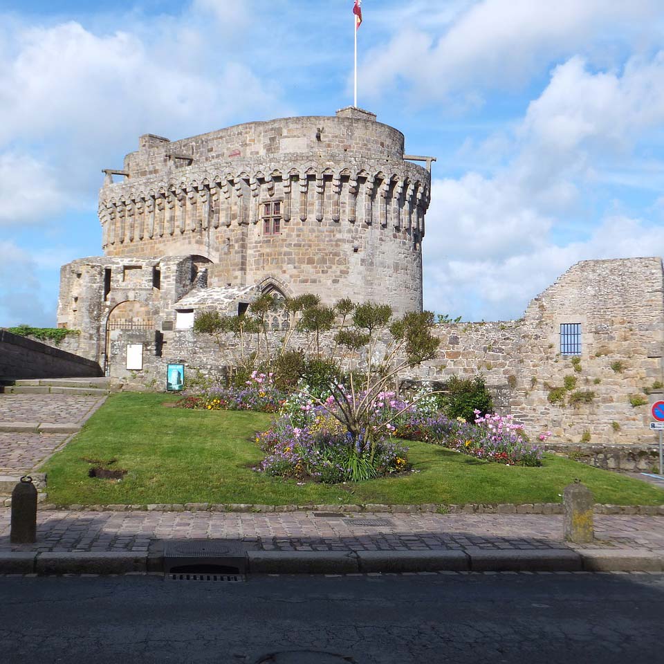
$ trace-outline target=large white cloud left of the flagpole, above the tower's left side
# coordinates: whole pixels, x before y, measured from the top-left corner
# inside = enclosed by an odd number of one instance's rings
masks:
[[[218,21],[201,27],[207,5],[151,30],[0,28],[0,188],[15,191],[0,223],[92,206],[100,169],[121,166],[142,133],[183,138],[286,109],[277,85],[225,50]]]

